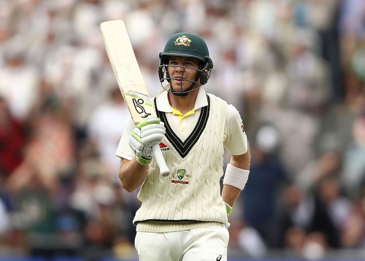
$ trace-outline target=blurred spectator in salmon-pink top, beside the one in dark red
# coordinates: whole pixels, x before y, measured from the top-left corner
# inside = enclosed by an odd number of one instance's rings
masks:
[[[32,135],[26,150],[29,158],[48,179],[68,175],[74,160],[74,129],[64,101],[51,92],[31,118]],[[46,160],[45,160],[46,159]]]

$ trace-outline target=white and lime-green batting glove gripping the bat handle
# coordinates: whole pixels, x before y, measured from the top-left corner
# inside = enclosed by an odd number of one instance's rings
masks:
[[[148,165],[153,157],[152,146],[159,144],[165,135],[165,125],[159,118],[149,118],[139,123],[129,136],[129,146],[142,165]]]

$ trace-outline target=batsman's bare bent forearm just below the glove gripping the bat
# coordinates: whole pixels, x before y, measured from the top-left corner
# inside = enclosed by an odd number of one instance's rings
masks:
[[[145,181],[148,168],[139,164],[136,157],[132,160],[122,159],[118,170],[122,188],[128,192],[137,189]]]

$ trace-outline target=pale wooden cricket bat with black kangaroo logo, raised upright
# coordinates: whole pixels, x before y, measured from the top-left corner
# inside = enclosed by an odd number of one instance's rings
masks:
[[[100,30],[115,79],[134,124],[137,125],[148,118],[156,118],[123,20],[103,22],[100,24]],[[170,171],[160,146],[153,145],[152,151],[161,175],[168,176]]]

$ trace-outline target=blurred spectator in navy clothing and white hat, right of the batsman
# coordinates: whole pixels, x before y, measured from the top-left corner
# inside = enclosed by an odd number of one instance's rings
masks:
[[[250,184],[241,194],[245,222],[260,233],[269,247],[277,246],[276,199],[280,184],[287,178],[277,155],[279,144],[280,137],[273,126],[264,125],[258,130],[255,143],[251,145]]]

